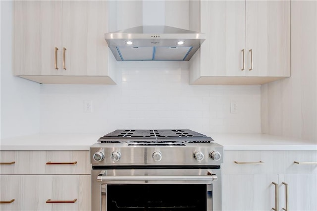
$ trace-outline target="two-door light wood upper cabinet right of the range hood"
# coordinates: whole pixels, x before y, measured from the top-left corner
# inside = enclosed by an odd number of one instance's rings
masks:
[[[263,84],[290,77],[289,0],[190,4],[189,28],[207,36],[189,61],[191,84]]]

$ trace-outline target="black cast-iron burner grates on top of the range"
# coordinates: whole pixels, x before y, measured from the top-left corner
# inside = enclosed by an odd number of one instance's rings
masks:
[[[101,143],[210,143],[213,139],[187,129],[174,130],[115,130],[103,137]]]

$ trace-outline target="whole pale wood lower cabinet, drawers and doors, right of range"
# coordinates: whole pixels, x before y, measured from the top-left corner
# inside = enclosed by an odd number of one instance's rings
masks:
[[[296,163],[295,163],[296,162]],[[278,186],[279,211],[316,211],[317,151],[225,151],[223,163],[224,211],[270,210]],[[299,163],[299,164],[298,164]]]

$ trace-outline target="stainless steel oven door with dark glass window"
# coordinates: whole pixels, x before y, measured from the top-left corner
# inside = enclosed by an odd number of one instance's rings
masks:
[[[220,169],[107,169],[92,177],[93,211],[221,210]]]

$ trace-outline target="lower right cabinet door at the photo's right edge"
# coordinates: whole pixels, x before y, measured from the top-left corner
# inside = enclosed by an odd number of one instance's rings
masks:
[[[286,209],[286,189],[288,184],[288,211],[317,211],[317,175],[281,174],[279,181],[279,207]]]

